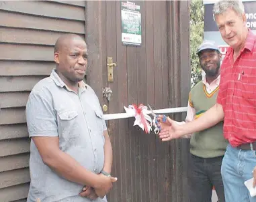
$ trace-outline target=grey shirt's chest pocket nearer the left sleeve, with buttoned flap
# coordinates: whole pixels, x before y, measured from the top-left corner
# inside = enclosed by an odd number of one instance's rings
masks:
[[[65,110],[58,112],[58,135],[70,139],[79,136],[79,123],[77,110]]]

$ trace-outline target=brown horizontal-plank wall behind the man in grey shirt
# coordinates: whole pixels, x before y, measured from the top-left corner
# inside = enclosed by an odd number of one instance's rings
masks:
[[[25,106],[54,68],[62,33],[85,37],[85,1],[0,1],[0,201],[25,201],[30,140]]]

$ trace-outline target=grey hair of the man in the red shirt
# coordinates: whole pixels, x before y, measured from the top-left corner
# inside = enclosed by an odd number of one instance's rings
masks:
[[[214,20],[215,15],[224,13],[227,9],[233,9],[237,14],[245,13],[245,7],[243,6],[242,1],[239,0],[220,0],[214,3],[213,14]]]

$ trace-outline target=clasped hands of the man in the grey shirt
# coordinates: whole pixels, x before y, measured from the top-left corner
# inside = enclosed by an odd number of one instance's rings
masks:
[[[102,199],[112,189],[112,183],[115,183],[118,179],[116,177],[107,177],[103,174],[98,175],[99,180],[95,185],[95,193]]]

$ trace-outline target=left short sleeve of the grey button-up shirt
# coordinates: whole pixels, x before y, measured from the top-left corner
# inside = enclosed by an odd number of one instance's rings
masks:
[[[26,105],[28,133],[32,136],[58,136],[56,114],[50,94],[32,92]]]

